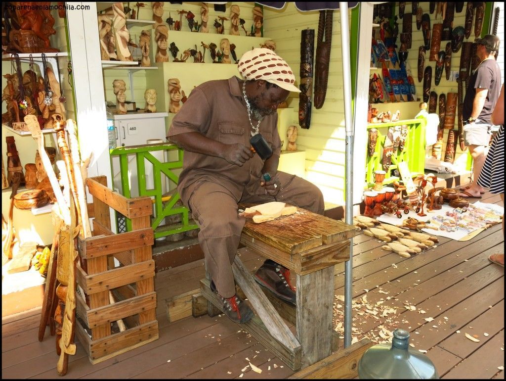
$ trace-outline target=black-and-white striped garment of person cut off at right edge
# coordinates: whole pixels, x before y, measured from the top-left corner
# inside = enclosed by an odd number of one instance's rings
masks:
[[[490,188],[490,193],[504,193],[504,125],[492,140],[485,164],[478,177],[478,185]]]

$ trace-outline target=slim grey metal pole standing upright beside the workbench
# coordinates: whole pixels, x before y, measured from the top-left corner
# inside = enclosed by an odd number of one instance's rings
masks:
[[[346,215],[345,222],[353,224],[353,133],[351,110],[351,69],[350,69],[350,32],[348,26],[348,3],[339,3],[341,13],[341,50],[343,58],[343,85],[345,100],[346,129]],[[352,328],[352,278],[353,271],[353,238],[350,238],[350,260],[345,263],[345,340],[344,347],[351,346]]]

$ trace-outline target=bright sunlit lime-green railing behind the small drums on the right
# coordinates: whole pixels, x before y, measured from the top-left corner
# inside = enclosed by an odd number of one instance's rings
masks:
[[[427,119],[425,116],[419,115],[416,119],[408,119],[398,122],[390,123],[374,123],[368,124],[367,129],[375,128],[378,130],[378,138],[376,141],[376,147],[374,155],[369,157],[366,149],[366,183],[367,187],[374,184],[374,171],[383,170],[382,158],[383,158],[383,145],[385,144],[385,138],[389,127],[394,126],[408,126],[408,136],[404,144],[404,149],[397,149],[392,155],[392,164],[387,171],[385,176],[384,184],[391,183],[395,180],[399,180],[399,177],[392,176],[392,170],[397,169],[398,163],[407,162],[408,168],[412,175],[424,173],[425,167],[425,127],[427,125]]]

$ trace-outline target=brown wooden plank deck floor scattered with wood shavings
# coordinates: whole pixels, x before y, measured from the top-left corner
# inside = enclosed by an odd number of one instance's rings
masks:
[[[482,201],[502,205],[498,196],[490,194]],[[411,258],[382,250],[382,245],[363,234],[354,239],[353,336],[377,342],[383,340],[382,328],[407,329],[414,348],[427,351],[441,378],[503,379],[504,371],[498,367],[504,365],[504,269],[487,259],[491,253],[503,252],[501,226],[488,228],[468,242],[440,237],[437,247]],[[185,287],[191,290],[194,283],[189,274],[198,279],[202,269],[201,261],[197,261],[156,275],[158,340],[96,365],[90,364],[85,350],[77,344],[68,373],[62,378],[291,375],[288,366],[225,316],[168,322],[160,296],[170,295],[166,288],[174,288],[174,284],[179,284],[178,292],[184,292]],[[335,323],[339,324],[344,264],[335,267],[334,279]],[[54,338],[47,332],[44,341],[37,340],[39,314],[36,308],[3,318],[2,378],[58,377]],[[465,333],[476,335],[480,341],[469,340]],[[248,361],[263,372],[251,371]]]

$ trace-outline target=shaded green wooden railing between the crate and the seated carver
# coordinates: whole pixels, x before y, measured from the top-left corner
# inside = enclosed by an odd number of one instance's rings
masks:
[[[151,152],[165,150],[167,161],[160,162]],[[197,229],[198,226],[189,217],[189,210],[178,203],[179,193],[174,190],[170,196],[162,194],[162,179],[165,182],[165,175],[170,187],[175,188],[178,184],[178,174],[175,170],[183,168],[183,150],[171,143],[143,144],[130,147],[117,147],[110,150],[112,156],[119,157],[119,170],[121,174],[121,192],[124,197],[131,197],[129,185],[129,155],[136,156],[137,179],[139,186],[139,196],[150,196],[154,198],[154,214],[151,221],[154,237],[161,238],[172,234],[178,234]],[[176,159],[177,157],[177,159]],[[171,158],[174,158],[171,160]],[[146,160],[153,166],[153,189],[146,188]],[[166,217],[181,215],[181,218],[175,218],[180,222],[169,225],[163,224]],[[176,216],[177,217],[177,216]],[[126,230],[132,231],[132,221],[126,218]]]

